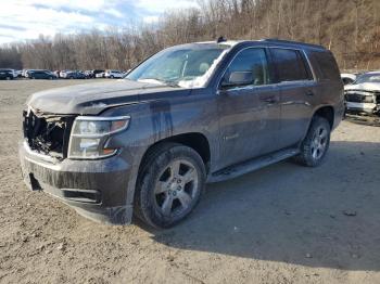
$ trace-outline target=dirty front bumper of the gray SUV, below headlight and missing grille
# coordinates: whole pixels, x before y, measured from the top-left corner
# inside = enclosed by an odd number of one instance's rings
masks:
[[[97,160],[59,160],[18,146],[22,172],[30,190],[43,191],[74,207],[80,215],[112,224],[130,223],[127,203],[131,165],[119,155]]]

